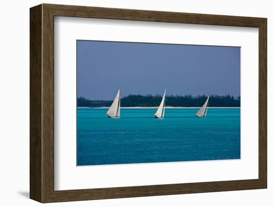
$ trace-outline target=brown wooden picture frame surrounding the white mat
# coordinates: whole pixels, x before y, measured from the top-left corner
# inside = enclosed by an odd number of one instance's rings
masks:
[[[259,179],[54,191],[54,16],[259,28]],[[30,8],[30,199],[41,203],[267,188],[267,19],[40,4]]]

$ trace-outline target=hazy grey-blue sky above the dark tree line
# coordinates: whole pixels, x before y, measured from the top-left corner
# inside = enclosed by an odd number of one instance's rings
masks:
[[[77,96],[240,96],[240,47],[77,40]]]

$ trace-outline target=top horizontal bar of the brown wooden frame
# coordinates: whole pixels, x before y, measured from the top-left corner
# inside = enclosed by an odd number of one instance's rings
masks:
[[[55,16],[259,27],[264,18],[167,11],[43,4]]]

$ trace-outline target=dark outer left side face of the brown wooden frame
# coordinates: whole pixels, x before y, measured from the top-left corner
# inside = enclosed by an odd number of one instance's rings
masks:
[[[30,9],[30,193],[42,202],[42,6]]]

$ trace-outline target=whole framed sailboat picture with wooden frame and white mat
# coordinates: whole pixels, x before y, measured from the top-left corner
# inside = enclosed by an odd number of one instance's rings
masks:
[[[267,188],[267,19],[30,8],[30,198]]]

